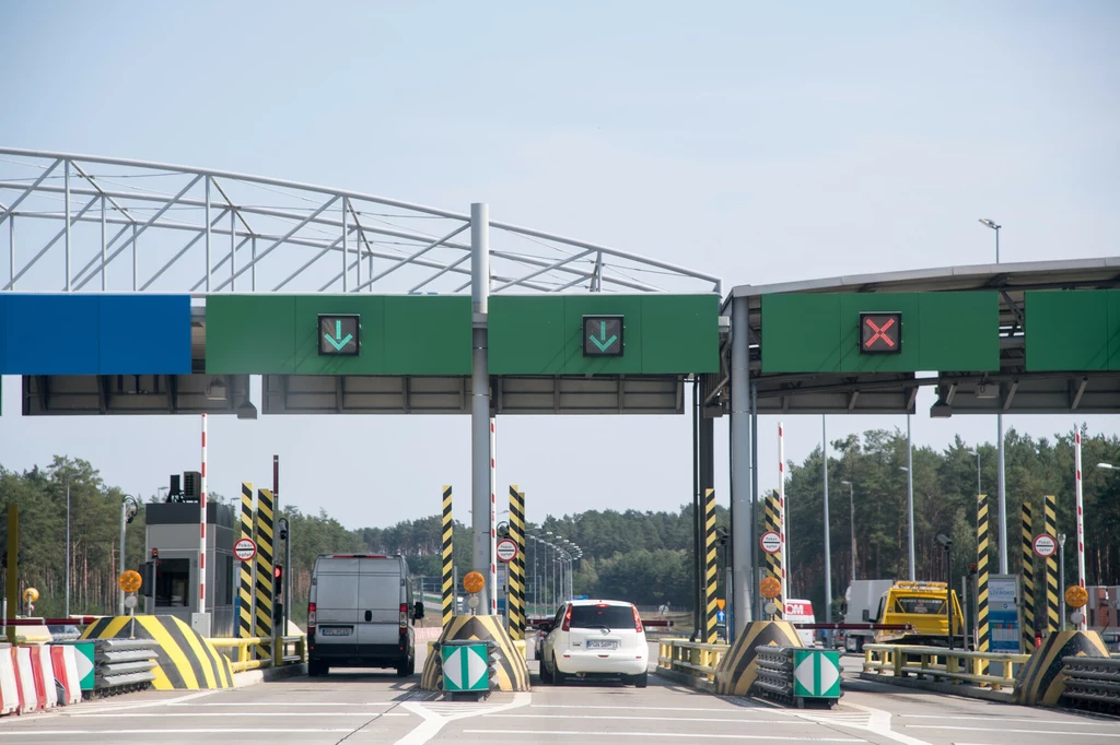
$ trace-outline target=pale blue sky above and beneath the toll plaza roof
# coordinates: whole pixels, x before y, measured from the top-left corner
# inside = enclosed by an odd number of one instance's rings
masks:
[[[1120,253],[1118,38],[1114,2],[8,2],[0,143],[486,201],[493,219],[725,286],[987,262],[978,217],[1004,225],[1004,261],[1105,256]],[[993,421],[930,421],[928,404],[916,442],[995,438]],[[195,417],[19,408],[6,378],[8,468],[68,453],[152,493],[197,461]],[[1006,422],[1047,435],[1074,419]],[[785,424],[800,461],[820,419]],[[690,499],[689,417],[498,426],[498,482],[526,490],[530,519]],[[833,417],[830,435],[894,426]],[[280,453],[281,499],[351,527],[433,513],[445,482],[468,517],[466,418],[211,431],[218,492],[265,482]],[[776,419],[760,432],[776,466]],[[726,423],[717,436],[724,452]]]

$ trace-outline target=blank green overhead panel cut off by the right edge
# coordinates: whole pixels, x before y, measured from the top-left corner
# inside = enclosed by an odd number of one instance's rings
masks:
[[[1120,290],[1024,293],[1027,370],[1120,370]]]

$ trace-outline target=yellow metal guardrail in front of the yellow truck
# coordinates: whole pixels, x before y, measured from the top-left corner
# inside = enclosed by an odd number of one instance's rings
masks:
[[[904,647],[899,644],[864,644],[864,671],[893,675],[896,678],[922,676],[933,680],[988,686],[992,690],[1015,689],[1016,666],[1030,659],[1029,654],[999,652],[970,652],[949,650],[944,647]],[[978,672],[1000,662],[1004,675]]]

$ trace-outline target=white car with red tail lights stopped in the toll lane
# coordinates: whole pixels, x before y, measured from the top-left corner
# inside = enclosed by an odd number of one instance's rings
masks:
[[[624,601],[568,601],[544,623],[541,680],[562,686],[568,678],[622,679],[645,688],[650,648],[642,617]]]

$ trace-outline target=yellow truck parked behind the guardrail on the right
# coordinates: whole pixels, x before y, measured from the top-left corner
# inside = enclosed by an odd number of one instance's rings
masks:
[[[911,631],[876,631],[880,644],[948,644],[950,603],[953,635],[961,639],[964,614],[956,593],[944,582],[895,582],[879,597],[877,615],[870,621],[909,624]]]

